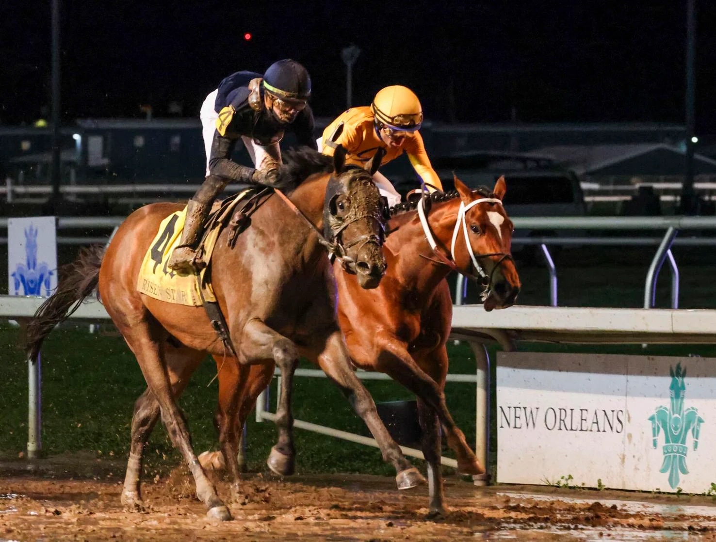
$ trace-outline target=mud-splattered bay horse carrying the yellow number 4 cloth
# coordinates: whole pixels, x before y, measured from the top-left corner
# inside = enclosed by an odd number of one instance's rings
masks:
[[[347,395],[380,443],[384,460],[397,471],[399,486],[413,487],[424,480],[390,437],[372,397],[355,376],[337,322],[336,283],[324,244],[334,247],[362,288],[377,286],[385,271],[382,200],[372,183],[378,163],[367,165],[367,170],[345,169],[344,157],[342,149],[334,158],[309,149],[287,153],[281,175],[303,181],[289,194],[300,213],[291,212],[278,197],[270,197],[253,212],[251,226],[238,236],[234,248],[228,246],[228,230],[218,236],[212,284],[237,357],[227,354],[202,307],[169,304],[137,291],[143,256],[161,221],[183,208],[181,204],[153,203],[136,210],[122,223],[106,251],[95,248],[84,252],[55,294],[38,309],[26,335],[30,359],[37,358],[53,327],[98,287],[107,313],[142,369],[147,389],[135,402],[132,417],[122,489],[122,503],[127,508],[142,509],[142,452],[161,415],[173,445],[193,475],[196,495],[205,504],[207,515],[231,519],[193,451],[176,403],[207,353],[217,360],[220,374],[231,374],[234,380],[240,377],[240,384],[241,379],[248,384],[234,385],[231,394],[220,395],[228,419],[236,417],[238,392],[251,395],[251,382],[246,380],[249,373],[273,374],[276,364],[290,382],[289,372],[300,356],[313,360]],[[319,234],[321,228],[327,242]],[[220,385],[220,389],[225,387]],[[290,388],[283,400],[289,404]],[[237,440],[228,427],[223,435],[228,455],[236,457]],[[238,483],[238,473],[236,480]],[[232,490],[236,489],[233,485]]]

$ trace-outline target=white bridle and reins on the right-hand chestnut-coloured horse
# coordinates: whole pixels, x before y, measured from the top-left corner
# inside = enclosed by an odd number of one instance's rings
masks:
[[[492,284],[493,274],[495,274],[495,270],[500,266],[500,264],[505,260],[512,260],[512,255],[505,252],[491,252],[491,253],[485,253],[485,254],[475,254],[475,251],[473,251],[473,246],[470,245],[469,237],[468,237],[468,223],[465,221],[465,214],[473,208],[475,205],[478,205],[479,203],[499,203],[502,205],[502,201],[498,198],[479,198],[477,200],[471,201],[468,203],[468,205],[465,205],[463,201],[460,201],[460,207],[458,208],[458,216],[455,219],[455,229],[453,230],[453,241],[450,243],[450,253],[445,254],[440,247],[437,246],[437,242],[435,241],[435,236],[432,235],[432,230],[430,229],[430,224],[427,222],[427,214],[425,211],[425,199],[427,198],[427,193],[423,193],[422,197],[420,198],[420,202],[417,204],[417,216],[420,217],[420,225],[422,226],[422,231],[425,233],[425,238],[427,239],[427,243],[430,245],[430,248],[432,248],[432,251],[435,253],[435,255],[440,258],[440,261],[437,263],[444,263],[446,266],[454,269],[459,274],[467,277],[468,279],[472,279],[475,282],[478,282],[480,284],[483,284],[485,286],[485,290],[481,294],[482,301],[485,301],[485,299],[488,298],[490,295],[490,284]],[[468,254],[470,254],[470,260],[472,261],[473,268],[478,272],[478,275],[472,274],[468,271],[465,271],[458,267],[458,264],[455,263],[455,258],[453,255],[455,254],[455,243],[458,241],[458,233],[460,232],[460,225],[463,226],[463,236],[465,237],[465,248],[468,249]],[[422,255],[421,255],[422,256]],[[501,256],[500,259],[495,263],[495,266],[493,266],[492,271],[488,275],[485,272],[485,269],[482,265],[480,265],[480,259],[482,258],[490,258],[492,256]],[[427,258],[427,256],[424,256]],[[427,258],[430,261],[432,258]]]

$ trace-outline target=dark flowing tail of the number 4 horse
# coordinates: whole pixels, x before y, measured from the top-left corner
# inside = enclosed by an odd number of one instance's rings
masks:
[[[82,248],[77,259],[60,269],[62,280],[57,290],[39,306],[25,332],[25,352],[28,359],[37,359],[42,342],[54,326],[69,318],[87,296],[97,289],[100,266],[105,255],[102,245]],[[97,294],[99,299],[99,294]]]

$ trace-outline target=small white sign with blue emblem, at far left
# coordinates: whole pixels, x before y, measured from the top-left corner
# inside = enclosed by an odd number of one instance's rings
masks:
[[[8,293],[49,296],[57,288],[54,216],[8,218]]]

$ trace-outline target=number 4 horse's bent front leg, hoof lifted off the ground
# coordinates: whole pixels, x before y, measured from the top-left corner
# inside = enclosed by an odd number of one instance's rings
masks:
[[[278,475],[291,475],[295,468],[294,415],[291,412],[291,393],[293,392],[294,371],[299,363],[299,349],[296,344],[274,331],[259,319],[246,324],[241,337],[241,357],[246,362],[273,358],[281,371],[281,393],[279,407],[276,409],[276,427],[279,441],[271,448],[266,463]]]

